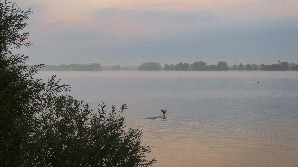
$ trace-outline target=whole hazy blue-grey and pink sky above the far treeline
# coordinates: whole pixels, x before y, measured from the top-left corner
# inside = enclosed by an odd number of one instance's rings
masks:
[[[28,64],[298,63],[297,0],[16,0]]]

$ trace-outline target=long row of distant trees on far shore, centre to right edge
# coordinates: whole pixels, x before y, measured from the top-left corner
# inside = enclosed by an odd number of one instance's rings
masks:
[[[224,71],[224,70],[271,70],[271,71],[286,71],[286,70],[298,70],[298,65],[295,63],[289,64],[288,62],[280,62],[278,64],[264,65],[262,64],[259,68],[257,64],[247,64],[244,66],[242,63],[233,65],[232,69],[227,66],[226,62],[219,61],[217,65],[207,65],[205,62],[194,62],[192,64],[188,63],[178,63],[176,65],[165,64],[164,68],[159,67],[160,63],[147,62],[139,66],[138,70],[177,70],[177,71]]]

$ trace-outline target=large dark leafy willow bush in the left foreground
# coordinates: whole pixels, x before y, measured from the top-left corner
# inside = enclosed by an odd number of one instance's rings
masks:
[[[93,113],[55,76],[36,79],[43,65],[28,67],[28,56],[12,54],[31,45],[20,33],[30,13],[0,0],[0,166],[151,166],[142,131],[124,130],[125,104],[107,113],[101,102]]]

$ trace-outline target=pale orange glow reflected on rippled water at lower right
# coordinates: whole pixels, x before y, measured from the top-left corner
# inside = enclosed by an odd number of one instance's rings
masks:
[[[145,132],[142,141],[152,147],[148,157],[159,160],[156,167],[296,167],[298,162],[296,125],[244,129],[175,122],[170,118],[167,122],[137,120],[133,125]],[[288,136],[293,132],[294,136]]]

